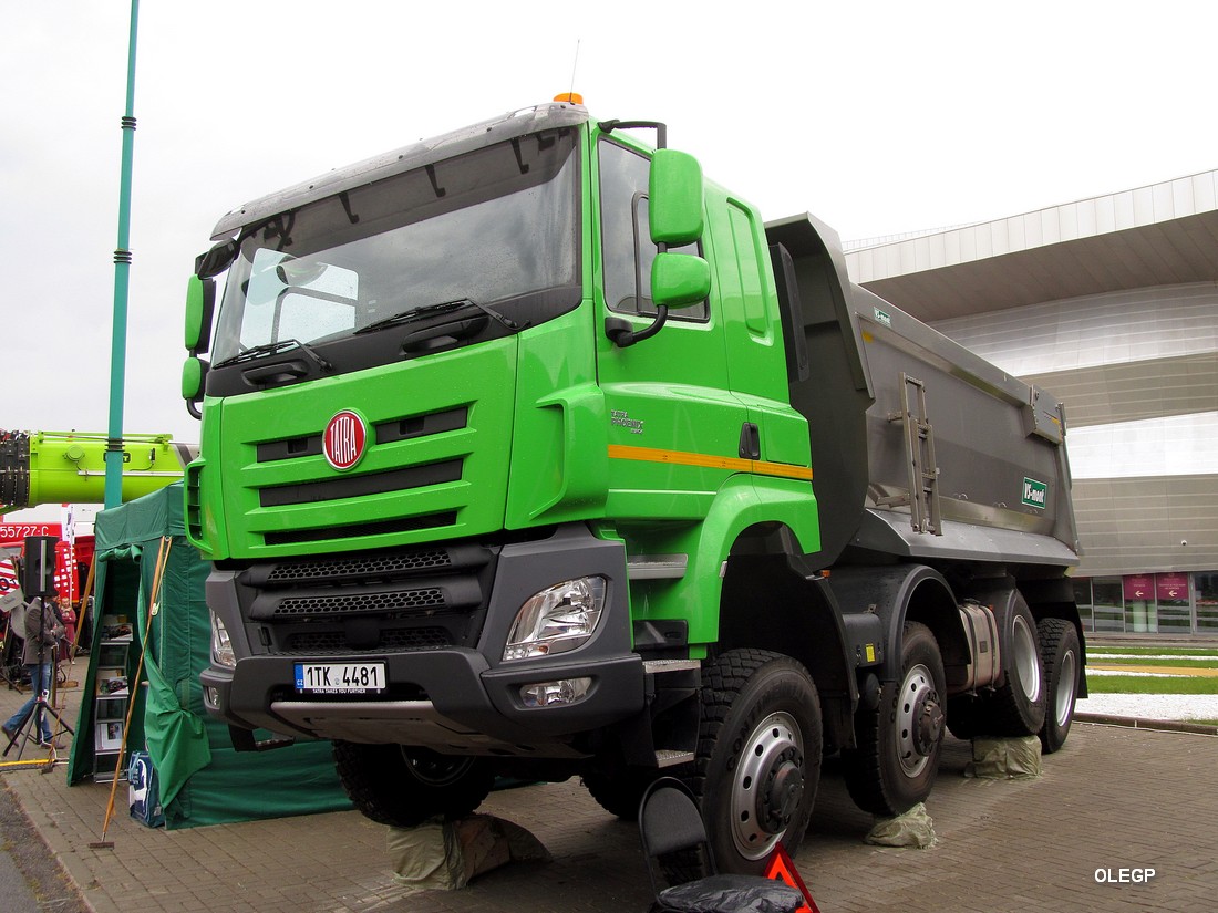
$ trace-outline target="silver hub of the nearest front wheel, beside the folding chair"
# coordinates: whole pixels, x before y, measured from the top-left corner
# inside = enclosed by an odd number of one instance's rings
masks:
[[[804,796],[804,746],[788,713],[762,719],[741,751],[732,778],[732,840],[747,859],[767,856]]]

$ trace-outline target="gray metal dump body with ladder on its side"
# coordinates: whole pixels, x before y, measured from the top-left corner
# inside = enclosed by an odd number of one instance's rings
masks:
[[[1061,404],[853,285],[836,234],[811,217],[767,234],[790,256],[804,325],[808,369],[790,393],[812,438],[815,562],[1075,565]]]

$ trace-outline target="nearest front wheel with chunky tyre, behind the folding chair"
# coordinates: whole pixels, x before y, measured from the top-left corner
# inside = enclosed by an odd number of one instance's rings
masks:
[[[769,650],[728,650],[703,670],[698,796],[720,872],[761,874],[794,853],[821,773],[821,706],[808,671]]]

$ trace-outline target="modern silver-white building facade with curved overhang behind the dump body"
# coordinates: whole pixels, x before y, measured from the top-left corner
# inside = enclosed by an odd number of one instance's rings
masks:
[[[1218,635],[1218,170],[847,265],[1065,403],[1089,629]]]

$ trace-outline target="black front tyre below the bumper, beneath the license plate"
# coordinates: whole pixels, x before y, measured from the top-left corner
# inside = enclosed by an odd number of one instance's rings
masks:
[[[361,813],[398,828],[413,828],[437,816],[453,819],[469,814],[495,782],[482,758],[402,745],[335,741],[334,764]]]

